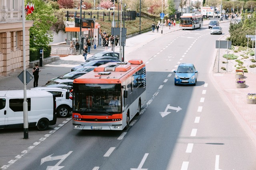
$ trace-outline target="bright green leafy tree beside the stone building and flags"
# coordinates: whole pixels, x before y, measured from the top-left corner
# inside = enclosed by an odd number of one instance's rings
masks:
[[[34,4],[34,11],[32,14],[26,16],[26,20],[33,20],[34,24],[30,27],[30,46],[46,46],[52,42],[51,27],[56,23],[57,18],[53,15],[54,10],[50,3],[44,0],[26,0]]]

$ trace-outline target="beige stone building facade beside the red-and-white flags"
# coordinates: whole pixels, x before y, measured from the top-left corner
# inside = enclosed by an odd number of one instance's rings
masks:
[[[23,68],[22,0],[0,0],[0,76]],[[29,67],[29,29],[25,21],[26,68]]]

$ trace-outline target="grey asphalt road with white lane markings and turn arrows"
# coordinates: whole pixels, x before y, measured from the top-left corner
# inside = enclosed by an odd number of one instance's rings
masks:
[[[255,145],[209,77],[221,36],[204,26],[129,51],[146,63],[147,104],[128,130],[76,131],[70,121],[10,169],[255,170]],[[196,86],[174,86],[179,63],[195,65]]]

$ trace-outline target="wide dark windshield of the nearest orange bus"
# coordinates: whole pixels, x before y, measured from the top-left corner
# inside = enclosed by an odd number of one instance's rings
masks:
[[[121,84],[76,84],[73,112],[81,115],[121,113]],[[79,92],[78,92],[79,91]]]

